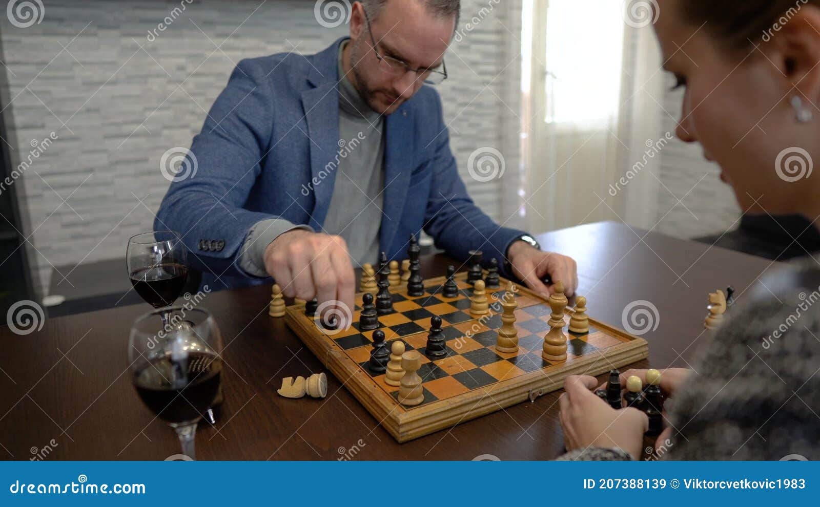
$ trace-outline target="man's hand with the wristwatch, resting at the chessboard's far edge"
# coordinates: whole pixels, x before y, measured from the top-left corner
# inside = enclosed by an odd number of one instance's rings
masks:
[[[541,278],[546,274],[549,274],[553,282],[560,280],[563,283],[564,294],[567,297],[575,294],[578,288],[578,266],[572,257],[540,251],[523,241],[512,243],[507,253],[512,264],[512,273],[541,296],[550,297],[555,291],[554,287],[548,287],[541,282]]]

